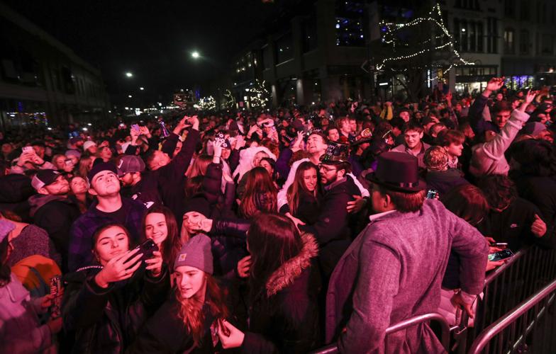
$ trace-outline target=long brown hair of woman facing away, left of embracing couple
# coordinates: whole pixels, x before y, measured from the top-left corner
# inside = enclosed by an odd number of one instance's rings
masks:
[[[264,167],[255,167],[246,174],[240,214],[249,219],[258,212],[277,212],[278,192],[268,171]]]

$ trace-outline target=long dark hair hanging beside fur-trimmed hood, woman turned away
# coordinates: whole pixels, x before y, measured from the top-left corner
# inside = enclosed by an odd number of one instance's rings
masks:
[[[253,219],[247,241],[251,253],[249,289],[251,304],[266,297],[266,282],[274,270],[297,256],[303,241],[294,222],[284,215],[262,212]]]

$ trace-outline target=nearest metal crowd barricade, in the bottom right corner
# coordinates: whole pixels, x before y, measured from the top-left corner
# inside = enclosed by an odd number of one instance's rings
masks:
[[[469,348],[478,353],[555,353],[556,280],[486,327]]]

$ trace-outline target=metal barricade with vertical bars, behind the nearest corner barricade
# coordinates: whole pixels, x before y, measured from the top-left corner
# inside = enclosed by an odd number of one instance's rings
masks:
[[[472,343],[486,327],[555,279],[555,250],[530,246],[516,253],[486,277],[483,297],[477,299],[474,326],[458,341],[457,353],[465,353],[466,344]]]

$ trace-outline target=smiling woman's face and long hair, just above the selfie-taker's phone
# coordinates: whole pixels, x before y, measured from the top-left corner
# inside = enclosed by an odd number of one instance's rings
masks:
[[[162,261],[172,269],[174,258],[182,248],[183,241],[179,238],[176,218],[172,210],[162,205],[154,205],[143,217],[145,239],[152,239],[162,253]]]

